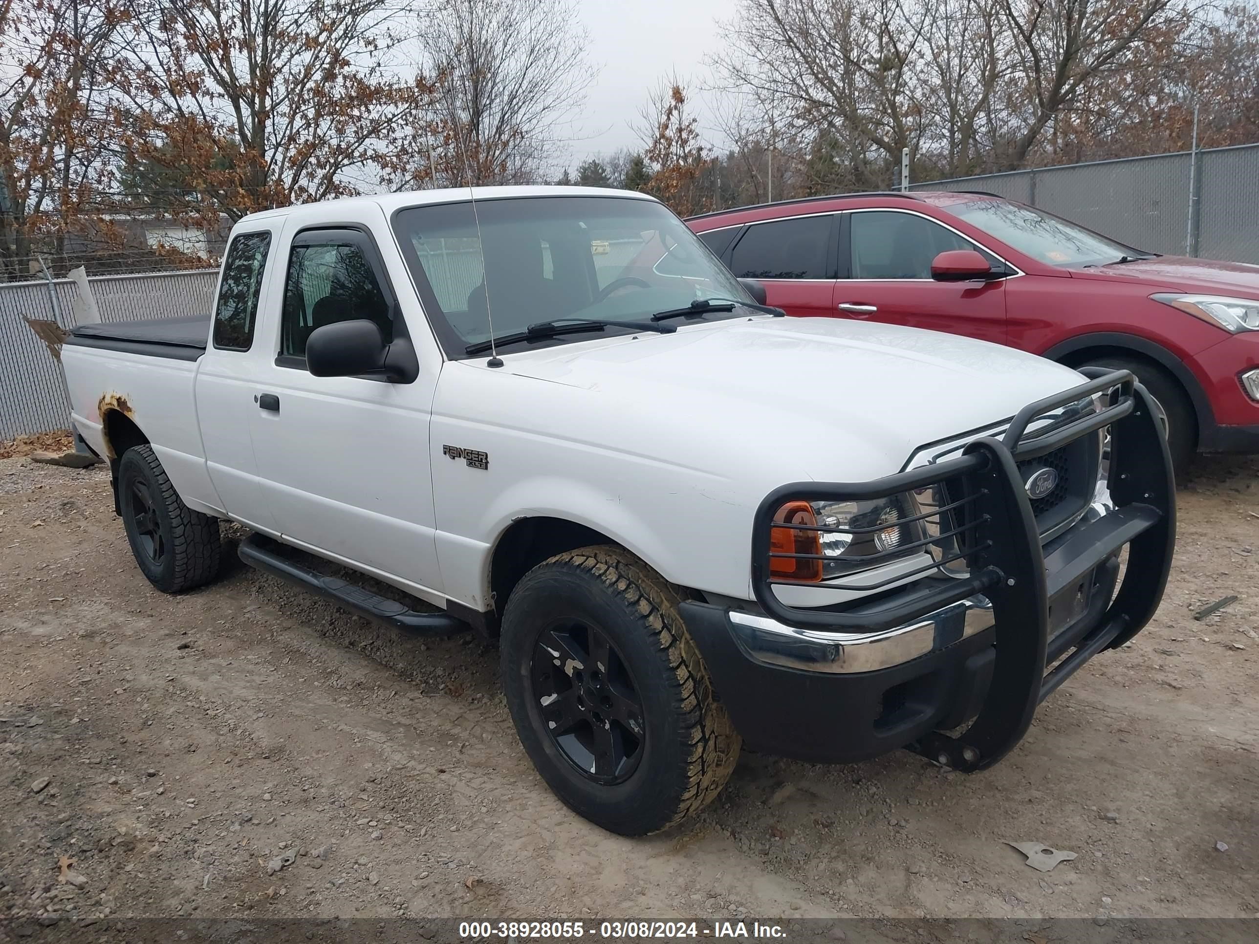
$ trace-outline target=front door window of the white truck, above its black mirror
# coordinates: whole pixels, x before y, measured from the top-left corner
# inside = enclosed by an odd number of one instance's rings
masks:
[[[281,354],[305,357],[306,340],[324,325],[365,318],[393,340],[393,317],[380,282],[358,240],[311,239],[298,234],[288,257]]]

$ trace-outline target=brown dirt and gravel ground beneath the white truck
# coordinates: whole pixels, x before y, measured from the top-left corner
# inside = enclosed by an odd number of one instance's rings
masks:
[[[533,772],[492,648],[247,570],[228,529],[227,573],[165,597],[104,471],[0,461],[0,918],[1259,916],[1256,472],[1200,463],[1153,623],[993,770],[745,755],[624,840]]]

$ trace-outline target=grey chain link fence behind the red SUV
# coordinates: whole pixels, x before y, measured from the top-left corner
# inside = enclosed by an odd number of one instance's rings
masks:
[[[1137,249],[1259,263],[1259,145],[912,184],[985,190]]]

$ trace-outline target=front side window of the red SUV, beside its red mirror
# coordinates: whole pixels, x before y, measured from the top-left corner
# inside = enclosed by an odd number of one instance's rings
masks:
[[[895,210],[851,214],[850,278],[932,277],[932,259],[949,249],[974,249],[991,266],[1000,261],[964,237],[925,216]]]

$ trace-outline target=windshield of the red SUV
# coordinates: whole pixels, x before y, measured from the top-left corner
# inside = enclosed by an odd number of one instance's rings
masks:
[[[1105,266],[1143,254],[1131,245],[1022,204],[991,199],[968,200],[949,203],[944,209],[995,239],[1050,266]]]

